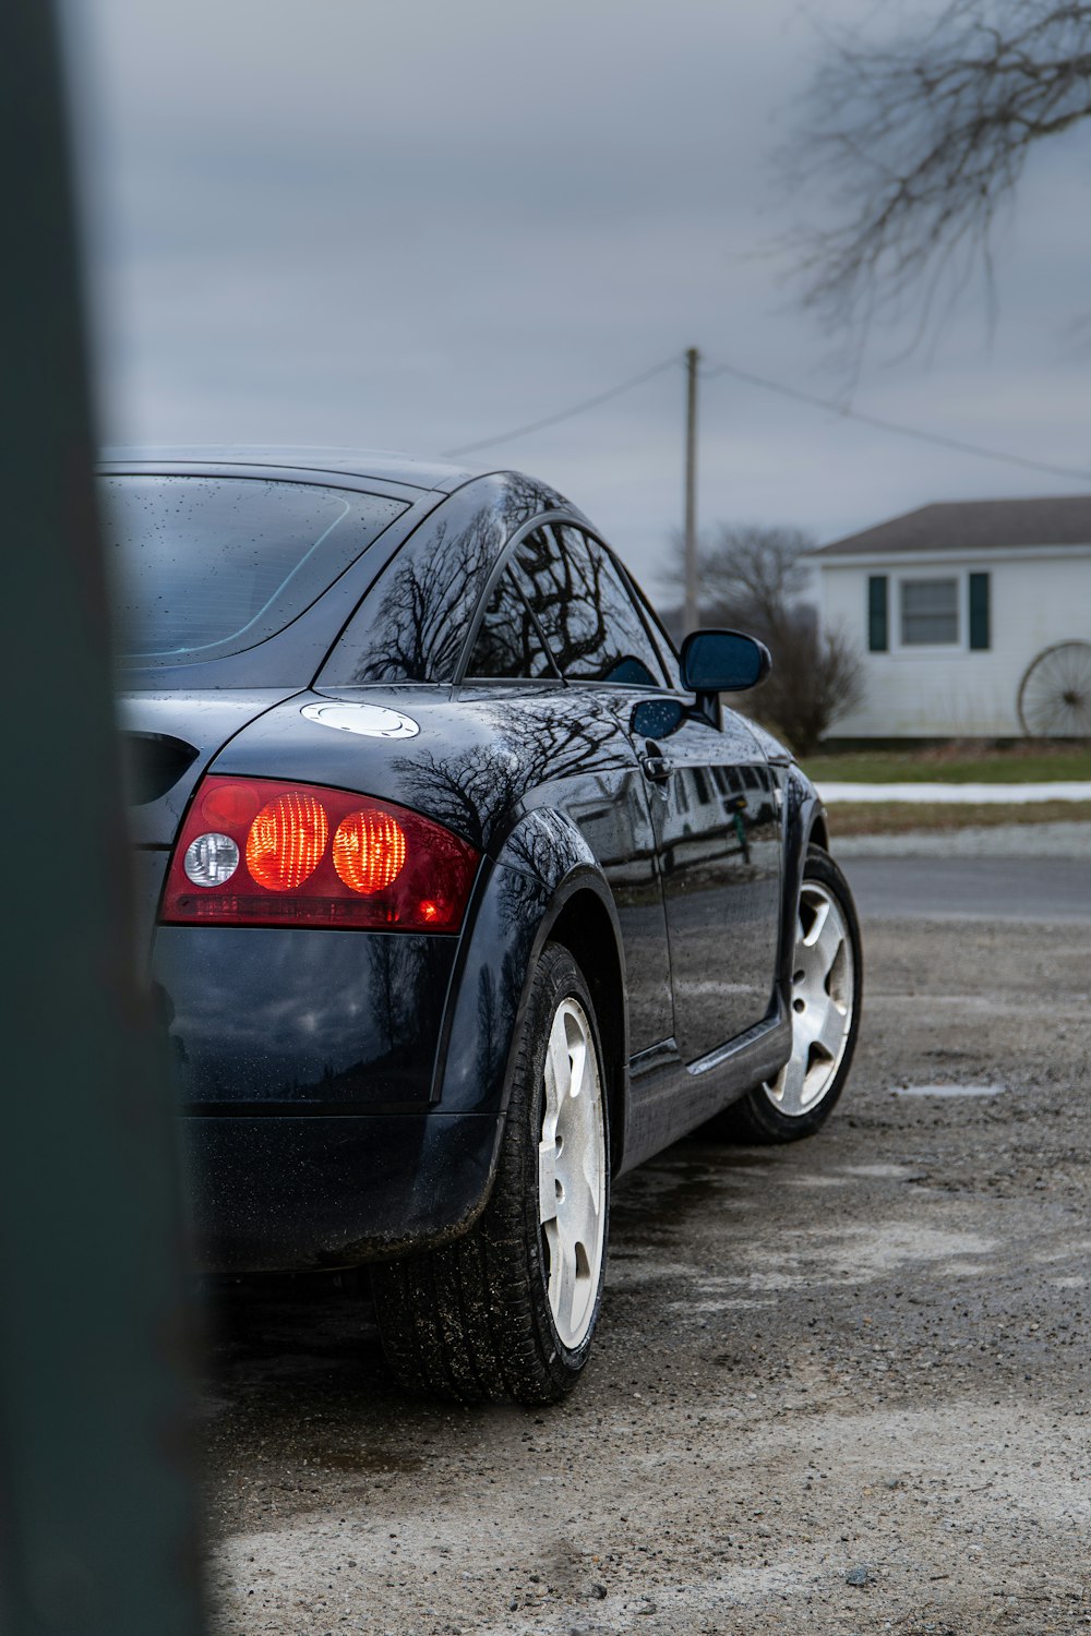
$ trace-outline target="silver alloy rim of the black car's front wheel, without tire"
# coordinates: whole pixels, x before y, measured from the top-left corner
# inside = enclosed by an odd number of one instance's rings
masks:
[[[805,880],[792,957],[792,1055],[765,1096],[787,1117],[808,1114],[837,1078],[852,1029],[852,942],[841,905]]]

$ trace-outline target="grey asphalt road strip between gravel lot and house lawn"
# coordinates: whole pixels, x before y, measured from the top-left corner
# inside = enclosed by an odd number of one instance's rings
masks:
[[[1091,861],[1071,857],[842,857],[873,919],[1091,923]]]

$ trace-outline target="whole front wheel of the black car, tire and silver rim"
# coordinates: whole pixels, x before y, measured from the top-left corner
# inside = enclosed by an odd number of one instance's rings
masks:
[[[775,1080],[723,1114],[736,1140],[795,1142],[826,1122],[852,1067],[862,973],[849,882],[828,852],[811,846],[792,954],[792,1055]]]

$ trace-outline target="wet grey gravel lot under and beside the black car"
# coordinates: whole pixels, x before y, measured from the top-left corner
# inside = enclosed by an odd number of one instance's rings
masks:
[[[826,1132],[618,1184],[564,1407],[399,1400],[353,1288],[222,1297],[218,1631],[1091,1628],[1091,926],[865,937]]]

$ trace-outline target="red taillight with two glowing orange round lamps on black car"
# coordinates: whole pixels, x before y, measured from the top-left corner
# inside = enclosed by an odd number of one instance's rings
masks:
[[[182,826],[159,918],[451,933],[478,857],[450,829],[393,802],[211,775]]]

